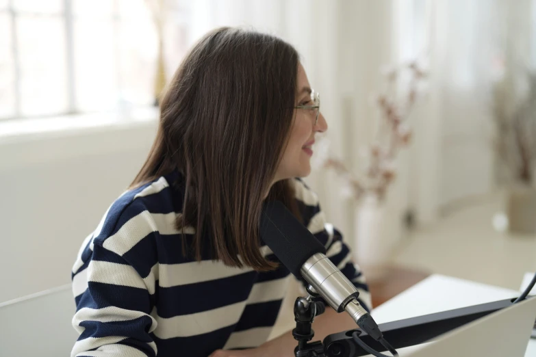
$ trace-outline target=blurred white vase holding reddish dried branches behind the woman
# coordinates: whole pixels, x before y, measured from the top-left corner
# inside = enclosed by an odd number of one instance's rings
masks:
[[[368,280],[383,278],[400,237],[400,220],[383,200],[369,195],[355,212],[354,259]]]

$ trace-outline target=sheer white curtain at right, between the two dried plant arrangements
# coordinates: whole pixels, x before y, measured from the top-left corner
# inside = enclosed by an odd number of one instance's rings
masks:
[[[421,222],[494,189],[497,62],[533,60],[536,29],[534,0],[426,3],[433,20],[430,92],[418,111],[409,161],[409,206]]]

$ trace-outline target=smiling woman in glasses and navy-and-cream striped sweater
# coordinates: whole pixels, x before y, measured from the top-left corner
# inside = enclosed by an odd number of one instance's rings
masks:
[[[326,245],[370,306],[347,246],[296,178],[327,130],[310,88],[296,50],[274,36],[221,28],[192,48],[149,157],[73,267],[72,356],[294,356],[290,332],[266,342],[291,278],[260,243],[266,199]],[[315,338],[354,327],[328,308]]]

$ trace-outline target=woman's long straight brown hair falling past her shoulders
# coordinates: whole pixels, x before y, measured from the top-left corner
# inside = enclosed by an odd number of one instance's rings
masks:
[[[297,70],[290,44],[222,27],[192,47],[166,88],[155,142],[131,186],[183,174],[176,223],[196,228],[197,260],[208,244],[226,265],[277,267],[259,251],[259,218],[268,190],[268,199],[283,200],[299,218],[292,183],[270,188],[292,125]],[[203,233],[211,239],[202,241]]]

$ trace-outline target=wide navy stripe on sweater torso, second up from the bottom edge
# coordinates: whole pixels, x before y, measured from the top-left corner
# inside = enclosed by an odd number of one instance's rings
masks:
[[[248,272],[177,287],[157,287],[158,316],[189,315],[242,302],[248,298],[256,276],[256,272]]]

